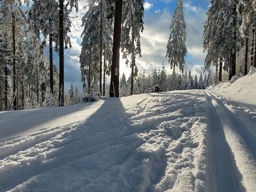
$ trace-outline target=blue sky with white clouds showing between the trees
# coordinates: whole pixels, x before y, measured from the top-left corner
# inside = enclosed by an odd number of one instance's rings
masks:
[[[154,68],[164,67],[168,74],[171,73],[170,65],[166,56],[166,45],[170,35],[172,16],[176,8],[177,0],[145,0],[144,7],[144,31],[141,33],[141,58],[136,58],[136,65],[139,73],[151,74]],[[81,71],[79,56],[81,54],[81,33],[83,28],[81,18],[86,10],[87,1],[79,1],[79,12],[74,20],[74,26],[70,35],[72,48],[65,50],[65,91],[75,84],[82,90]],[[210,0],[184,0],[184,17],[186,22],[187,40],[186,47],[188,54],[185,58],[185,70],[193,75],[204,72],[205,52],[203,48],[203,31],[206,20],[206,12],[209,8]],[[54,56],[54,61],[58,68],[58,54]],[[120,77],[125,73],[126,77],[131,74],[131,69],[126,67],[125,62],[120,59]]]

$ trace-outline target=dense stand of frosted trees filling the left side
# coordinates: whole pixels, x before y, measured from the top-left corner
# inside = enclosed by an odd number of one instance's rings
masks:
[[[59,51],[60,55],[63,53],[64,44],[65,47],[71,47],[67,35],[71,27],[68,15],[73,7],[77,10],[77,6],[77,0],[1,1],[1,111],[57,104],[63,106],[64,74],[61,67],[59,73],[54,66],[51,47],[52,42],[55,42],[56,51]],[[63,20],[60,15],[63,15]],[[44,53],[48,39],[50,61]],[[63,58],[60,61],[63,64]]]

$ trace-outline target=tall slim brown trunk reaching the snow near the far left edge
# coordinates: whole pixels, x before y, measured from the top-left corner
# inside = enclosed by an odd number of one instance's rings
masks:
[[[17,89],[17,65],[16,65],[16,36],[15,36],[15,16],[12,13],[12,53],[13,53],[13,109],[19,109],[18,89]]]

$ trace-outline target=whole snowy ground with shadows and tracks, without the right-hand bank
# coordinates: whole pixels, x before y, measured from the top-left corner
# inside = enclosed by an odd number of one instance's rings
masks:
[[[209,90],[8,111],[0,132],[0,191],[256,191],[255,104]]]

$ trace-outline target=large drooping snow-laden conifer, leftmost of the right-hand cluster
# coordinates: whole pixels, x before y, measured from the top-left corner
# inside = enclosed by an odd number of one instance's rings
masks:
[[[230,79],[236,74],[239,42],[236,6],[237,0],[211,1],[204,27],[204,48],[207,50],[205,68],[209,69],[211,65],[218,67],[218,60],[223,58],[223,69],[230,72]]]

